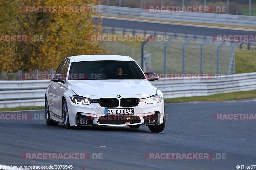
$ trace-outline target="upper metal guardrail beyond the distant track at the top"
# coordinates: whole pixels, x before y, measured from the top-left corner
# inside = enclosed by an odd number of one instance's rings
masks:
[[[229,15],[216,13],[199,13],[199,12],[172,12],[172,13],[157,13],[148,12],[146,9],[128,8],[118,6],[102,6],[100,14],[110,16],[123,16],[135,18],[149,18],[161,19],[169,21],[183,21],[183,22],[197,22],[197,23],[211,23],[224,24],[236,26],[256,26],[256,17],[244,15]]]

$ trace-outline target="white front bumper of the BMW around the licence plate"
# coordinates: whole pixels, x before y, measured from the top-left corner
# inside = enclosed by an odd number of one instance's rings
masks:
[[[131,96],[122,96],[123,98]],[[118,99],[119,102],[122,98]],[[78,115],[89,117],[90,122],[88,126],[99,125],[99,126],[129,126],[129,125],[141,125],[144,123],[145,116],[159,114],[159,119],[156,124],[163,123],[164,118],[164,101],[159,103],[147,104],[145,102],[139,102],[139,105],[134,108],[134,116],[124,116],[124,119],[120,117],[105,116],[105,107],[101,107],[99,103],[91,103],[90,105],[75,104],[68,97],[68,114],[70,126],[77,126]],[[122,107],[114,107],[122,108]],[[120,116],[120,115],[118,115]],[[143,118],[144,117],[144,118]],[[119,120],[118,120],[119,119]],[[108,120],[108,121],[104,121]],[[112,120],[112,121],[111,121]],[[115,120],[117,121],[115,123]],[[78,122],[79,123],[79,122]],[[80,125],[80,124],[79,124]],[[151,125],[151,124],[150,124]],[[86,125],[85,125],[86,126]]]

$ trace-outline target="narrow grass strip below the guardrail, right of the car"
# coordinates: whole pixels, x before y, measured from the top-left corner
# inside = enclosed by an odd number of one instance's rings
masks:
[[[179,103],[179,102],[193,102],[193,101],[228,101],[228,100],[241,100],[256,98],[256,90],[248,92],[232,92],[214,94],[211,96],[198,96],[198,97],[181,97],[173,99],[164,99],[165,103]]]

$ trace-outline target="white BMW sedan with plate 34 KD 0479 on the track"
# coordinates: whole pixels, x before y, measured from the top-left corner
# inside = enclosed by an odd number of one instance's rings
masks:
[[[163,93],[149,81],[129,56],[78,55],[67,57],[45,91],[47,125],[148,126],[162,132],[165,126]]]

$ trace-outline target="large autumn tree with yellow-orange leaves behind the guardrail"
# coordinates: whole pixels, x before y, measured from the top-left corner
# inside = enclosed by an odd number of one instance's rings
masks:
[[[102,54],[99,43],[88,41],[100,34],[94,22],[97,10],[86,12],[24,11],[28,6],[86,6],[97,0],[2,0],[0,1],[0,71],[56,69],[67,56]],[[4,35],[29,35],[32,41],[4,41]],[[40,37],[39,41],[34,41]]]

